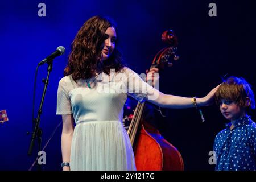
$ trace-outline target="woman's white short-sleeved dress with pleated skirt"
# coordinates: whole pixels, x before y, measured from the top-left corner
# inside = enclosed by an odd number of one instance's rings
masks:
[[[60,80],[56,114],[73,114],[76,123],[71,170],[136,170],[133,148],[122,125],[123,105],[127,94],[143,102],[150,89],[127,67],[110,76],[101,72],[91,89],[86,80],[75,82],[71,76]]]

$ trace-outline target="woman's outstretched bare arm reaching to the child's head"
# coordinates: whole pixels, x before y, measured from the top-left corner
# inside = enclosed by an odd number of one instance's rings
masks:
[[[203,98],[196,98],[197,106],[208,106],[212,104],[212,102],[214,101],[214,93],[218,89],[218,86],[212,89],[207,94],[207,96]],[[160,107],[174,108],[174,109],[183,109],[183,108],[193,107],[191,99],[192,99],[191,97],[189,98],[189,97],[180,97],[180,96],[164,94],[162,92],[159,92],[156,89],[151,89],[148,95],[146,96],[146,100],[148,102],[151,102],[152,104],[158,105]]]

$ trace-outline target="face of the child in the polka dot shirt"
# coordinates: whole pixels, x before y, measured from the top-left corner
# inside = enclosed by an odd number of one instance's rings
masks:
[[[245,116],[245,109],[238,106],[234,101],[222,99],[220,101],[222,115],[230,121],[235,121]]]

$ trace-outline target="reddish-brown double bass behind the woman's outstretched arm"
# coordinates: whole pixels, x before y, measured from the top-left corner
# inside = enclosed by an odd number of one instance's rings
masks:
[[[162,40],[168,47],[160,50],[154,57],[151,67],[164,69],[179,60],[176,55],[177,36],[174,31],[167,30]],[[160,132],[143,119],[145,102],[138,102],[127,131],[135,155],[138,171],[183,171],[184,164],[180,152]]]

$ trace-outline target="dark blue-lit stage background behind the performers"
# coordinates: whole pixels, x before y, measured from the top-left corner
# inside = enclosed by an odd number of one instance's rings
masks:
[[[46,17],[38,16],[38,4],[46,4]],[[217,5],[217,17],[208,15],[209,3]],[[0,110],[9,121],[0,125],[0,170],[28,170],[31,135],[32,92],[36,65],[56,47],[66,53],[57,57],[47,89],[40,127],[46,149],[45,170],[61,170],[61,122],[56,116],[56,93],[63,77],[70,45],[76,32],[94,15],[112,17],[118,25],[119,48],[126,63],[137,73],[150,67],[164,47],[163,31],[172,28],[178,38],[181,59],[160,78],[160,90],[178,96],[203,97],[220,84],[221,77],[242,76],[256,89],[256,1],[1,1]],[[36,109],[47,66],[40,67]],[[201,123],[195,109],[163,110],[158,129],[180,151],[185,170],[213,170],[208,163],[214,136],[224,128],[216,105],[204,107]],[[255,111],[251,113],[255,120]],[[35,168],[32,168],[35,170]]]

